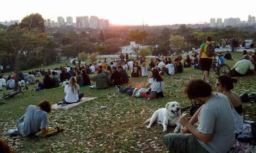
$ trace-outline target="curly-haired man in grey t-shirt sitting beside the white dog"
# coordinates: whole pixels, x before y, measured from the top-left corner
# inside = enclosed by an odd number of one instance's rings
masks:
[[[187,83],[184,93],[202,106],[188,121],[181,116],[182,133],[164,136],[170,152],[226,153],[235,142],[233,107],[221,93],[212,93],[211,85],[203,79]],[[195,128],[194,124],[199,123]]]

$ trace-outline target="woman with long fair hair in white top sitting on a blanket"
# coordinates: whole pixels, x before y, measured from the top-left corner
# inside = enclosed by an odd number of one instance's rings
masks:
[[[62,101],[65,104],[77,103],[83,97],[83,93],[79,93],[79,85],[76,84],[76,78],[72,76],[69,80],[69,84],[65,86],[64,89],[65,97]]]

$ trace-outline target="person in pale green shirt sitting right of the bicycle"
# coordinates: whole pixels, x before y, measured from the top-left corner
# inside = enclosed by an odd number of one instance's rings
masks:
[[[250,61],[250,55],[244,55],[242,60],[238,60],[231,69],[231,76],[244,76],[247,73],[254,73],[254,67]]]

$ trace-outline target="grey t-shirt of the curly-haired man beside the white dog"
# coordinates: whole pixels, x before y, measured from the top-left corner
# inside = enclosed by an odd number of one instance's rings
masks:
[[[211,153],[226,153],[235,141],[234,116],[228,98],[221,93],[216,94],[203,105],[198,115],[199,132],[212,133],[212,139],[208,143],[199,142]]]

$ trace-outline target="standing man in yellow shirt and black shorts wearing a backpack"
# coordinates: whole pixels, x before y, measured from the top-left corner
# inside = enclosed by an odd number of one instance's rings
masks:
[[[203,79],[209,83],[209,71],[212,64],[212,57],[215,54],[215,47],[211,43],[211,37],[206,37],[206,43],[201,44],[199,50],[199,68],[203,71]]]

